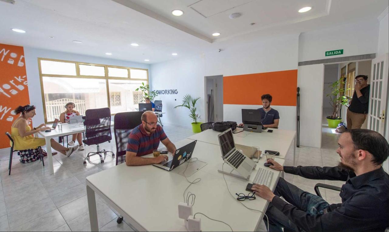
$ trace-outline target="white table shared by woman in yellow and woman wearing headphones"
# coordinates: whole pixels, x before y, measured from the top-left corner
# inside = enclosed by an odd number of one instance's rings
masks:
[[[111,126],[114,125],[114,122],[111,121]],[[47,125],[48,127],[51,127],[52,125]],[[45,132],[41,131],[39,132],[39,135],[41,135],[45,141],[46,141],[46,150],[47,150],[47,159],[49,161],[49,170],[50,174],[54,174],[54,166],[53,166],[53,154],[51,152],[51,143],[50,140],[55,138],[55,137],[60,137],[64,135],[72,135],[75,133],[82,133],[86,131],[86,127],[83,126],[81,123],[74,123],[74,124],[69,124],[69,123],[62,123],[62,130],[56,127],[55,130],[51,130],[50,132]]]

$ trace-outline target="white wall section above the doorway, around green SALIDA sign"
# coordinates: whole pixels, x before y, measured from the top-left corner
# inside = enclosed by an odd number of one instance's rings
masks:
[[[301,33],[298,61],[376,53],[378,26],[374,19]],[[343,49],[343,55],[325,56],[326,51],[336,49]]]

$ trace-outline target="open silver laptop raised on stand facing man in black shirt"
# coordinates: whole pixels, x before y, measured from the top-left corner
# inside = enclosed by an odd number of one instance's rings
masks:
[[[251,175],[255,167],[254,161],[235,149],[234,137],[231,128],[220,133],[219,144],[224,162],[236,170],[242,177],[247,178]]]

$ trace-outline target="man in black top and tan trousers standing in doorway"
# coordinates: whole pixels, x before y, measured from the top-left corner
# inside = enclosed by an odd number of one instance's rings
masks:
[[[347,109],[347,128],[360,129],[367,118],[369,111],[370,85],[367,84],[366,75],[355,78],[354,95]]]

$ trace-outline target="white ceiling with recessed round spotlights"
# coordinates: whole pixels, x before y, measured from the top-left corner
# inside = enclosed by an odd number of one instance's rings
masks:
[[[312,10],[298,13],[304,6]],[[0,43],[157,63],[264,36],[377,19],[387,6],[387,0],[16,0],[0,2]],[[184,15],[173,16],[173,9]],[[235,12],[242,16],[229,19]]]

